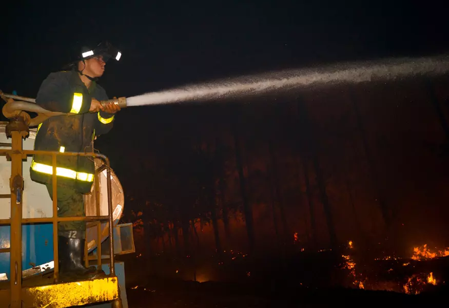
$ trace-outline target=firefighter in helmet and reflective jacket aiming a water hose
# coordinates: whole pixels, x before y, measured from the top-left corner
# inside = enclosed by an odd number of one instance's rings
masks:
[[[82,47],[66,65],[69,70],[50,73],[42,82],[36,104],[50,111],[70,113],[50,117],[37,130],[35,150],[61,152],[90,152],[93,139],[111,130],[118,105],[99,101],[108,100],[106,91],[97,84],[106,62],[119,60],[120,51],[109,43],[96,48]],[[30,167],[31,180],[45,184],[50,197],[52,189],[51,156],[35,155]],[[85,216],[84,194],[90,192],[95,165],[92,158],[57,156],[57,214],[58,217]],[[53,199],[53,198],[52,198]],[[61,279],[94,278],[104,275],[94,266],[86,268],[83,262],[86,245],[86,222],[58,223],[58,259]]]

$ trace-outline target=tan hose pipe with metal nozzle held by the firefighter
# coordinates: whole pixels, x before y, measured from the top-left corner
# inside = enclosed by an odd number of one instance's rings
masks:
[[[21,97],[13,94],[6,94],[0,91],[0,97],[6,102],[3,106],[2,112],[6,118],[12,119],[17,117],[24,118],[24,121],[29,126],[37,126],[50,117],[60,117],[61,115],[75,115],[77,113],[65,113],[49,111],[36,104],[36,100],[32,98]],[[118,98],[106,101],[100,101],[103,106],[107,103],[114,103],[120,108],[126,107],[126,98]],[[31,118],[30,115],[24,111],[37,113],[37,116]]]

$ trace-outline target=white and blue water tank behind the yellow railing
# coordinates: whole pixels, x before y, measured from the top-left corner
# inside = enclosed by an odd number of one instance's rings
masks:
[[[10,148],[11,139],[7,139],[5,127],[7,122],[0,122],[0,149]],[[30,129],[29,136],[23,140],[23,149],[33,150],[36,129]],[[23,161],[23,218],[40,218],[52,217],[52,201],[45,185],[31,181],[29,168],[31,165],[31,157],[27,161]],[[101,165],[100,159],[95,159],[95,165]],[[9,178],[11,177],[11,162],[6,160],[5,156],[0,156],[0,195],[10,194]],[[106,170],[99,174],[99,197],[100,197],[100,215],[108,215],[107,203],[107,185]],[[124,208],[124,194],[122,185],[111,169],[111,187],[112,187],[112,207],[114,226],[118,224]],[[84,196],[85,211],[87,216],[96,216],[95,213],[95,194],[94,185],[90,194]],[[10,218],[9,198],[0,198],[0,219]],[[108,223],[102,223],[102,242],[108,237]],[[89,252],[97,247],[96,243],[96,226],[87,223],[86,243]],[[9,225],[0,226],[0,248],[8,248],[10,240]],[[28,224],[22,226],[22,271],[33,268],[35,266],[50,264],[53,261],[53,229],[52,224]],[[0,253],[0,280],[9,279],[10,263],[9,253]],[[26,273],[28,273],[27,271]]]

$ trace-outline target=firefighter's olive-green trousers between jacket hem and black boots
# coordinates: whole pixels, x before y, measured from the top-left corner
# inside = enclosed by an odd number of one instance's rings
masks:
[[[52,184],[47,184],[50,198],[53,199]],[[58,217],[83,217],[85,216],[84,198],[81,192],[72,188],[57,186],[57,215]],[[63,221],[57,226],[59,236],[67,238],[86,238],[85,221]]]

